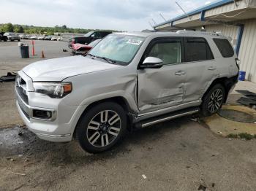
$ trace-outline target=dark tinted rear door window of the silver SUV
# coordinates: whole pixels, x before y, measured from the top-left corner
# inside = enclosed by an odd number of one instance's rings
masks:
[[[214,59],[211,49],[203,38],[185,38],[185,61],[206,61]]]

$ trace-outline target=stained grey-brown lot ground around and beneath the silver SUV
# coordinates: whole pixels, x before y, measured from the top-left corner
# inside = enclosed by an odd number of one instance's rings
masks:
[[[5,56],[4,47],[17,48],[16,42],[7,43],[0,43],[1,72],[4,67],[20,69],[40,60],[37,56],[23,61],[18,53],[15,58]],[[42,44],[41,49],[52,48],[55,53],[45,50],[47,58],[69,55],[62,52],[66,42],[36,44]],[[42,141],[26,127],[15,127],[22,122],[12,88],[12,82],[0,84],[1,191],[255,190],[255,139],[224,138],[188,116],[132,131],[113,150],[90,155],[80,149],[78,141]],[[229,102],[239,96],[230,95]]]

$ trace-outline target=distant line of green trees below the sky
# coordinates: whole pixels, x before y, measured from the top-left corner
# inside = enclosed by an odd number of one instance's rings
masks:
[[[101,31],[100,29],[68,28],[66,25],[55,26],[55,27],[44,27],[44,26],[16,25],[12,23],[0,24],[0,32],[15,32],[15,33],[25,33],[25,34],[48,34],[48,35],[53,35],[54,33],[86,34],[89,31],[94,31],[94,30]],[[113,30],[107,30],[107,31],[113,31]]]

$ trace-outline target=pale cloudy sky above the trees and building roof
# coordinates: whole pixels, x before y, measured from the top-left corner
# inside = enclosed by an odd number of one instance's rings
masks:
[[[1,0],[0,23],[141,31],[183,12],[177,0]],[[178,0],[186,11],[209,1]]]

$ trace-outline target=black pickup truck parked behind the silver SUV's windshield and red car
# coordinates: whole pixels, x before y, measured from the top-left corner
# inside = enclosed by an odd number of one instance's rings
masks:
[[[111,31],[90,31],[84,36],[74,36],[69,39],[68,47],[72,48],[72,44],[80,43],[80,44],[89,44],[96,39],[102,39],[108,34],[111,34]]]

